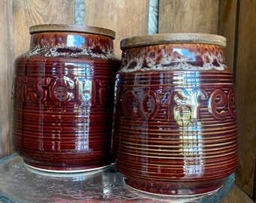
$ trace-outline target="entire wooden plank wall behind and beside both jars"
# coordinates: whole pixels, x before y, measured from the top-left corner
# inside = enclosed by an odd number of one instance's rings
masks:
[[[11,77],[14,57],[29,50],[29,26],[41,23],[78,23],[116,32],[120,40],[148,34],[151,0],[0,0],[0,157],[11,153]],[[154,0],[153,0],[154,1]],[[157,1],[157,0],[156,0]],[[81,2],[81,6],[77,5]],[[158,32],[206,32],[224,35],[226,63],[236,76],[239,122],[239,165],[236,183],[250,197],[254,192],[256,154],[256,1],[160,0]],[[74,15],[75,5],[79,14]],[[78,10],[77,10],[78,11]],[[74,17],[75,16],[75,17]],[[77,16],[77,17],[76,17]],[[80,19],[80,20],[79,20]],[[13,30],[13,32],[12,32]]]

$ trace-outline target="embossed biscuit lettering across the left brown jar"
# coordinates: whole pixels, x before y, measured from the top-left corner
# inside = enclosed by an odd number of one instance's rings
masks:
[[[113,79],[114,80],[114,79]],[[93,77],[35,77],[17,76],[14,83],[14,99],[17,102],[45,102],[51,99],[56,105],[71,100],[79,105],[108,105],[113,80]]]

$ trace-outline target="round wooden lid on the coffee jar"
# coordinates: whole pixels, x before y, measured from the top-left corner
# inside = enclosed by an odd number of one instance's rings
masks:
[[[215,44],[226,47],[226,38],[220,35],[204,34],[204,33],[169,33],[143,35],[132,38],[125,38],[120,42],[121,50],[133,47],[143,47],[157,44]]]

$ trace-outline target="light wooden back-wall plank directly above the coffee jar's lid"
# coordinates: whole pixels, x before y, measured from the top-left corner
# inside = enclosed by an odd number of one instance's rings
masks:
[[[159,32],[218,32],[218,0],[160,0]]]

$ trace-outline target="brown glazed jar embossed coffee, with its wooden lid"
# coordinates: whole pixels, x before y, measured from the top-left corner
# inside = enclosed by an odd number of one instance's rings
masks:
[[[121,41],[113,152],[128,186],[161,195],[215,191],[237,163],[226,39],[156,34]]]

